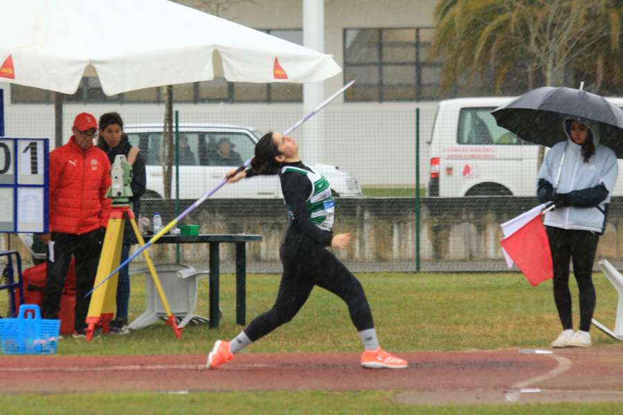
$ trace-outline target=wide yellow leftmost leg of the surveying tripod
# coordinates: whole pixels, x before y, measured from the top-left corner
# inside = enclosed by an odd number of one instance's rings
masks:
[[[95,284],[99,284],[115,268],[119,266],[121,259],[121,246],[123,244],[123,212],[112,212],[108,221],[108,228],[104,237],[104,245],[98,264]],[[93,338],[96,327],[107,324],[115,312],[115,298],[117,293],[118,273],[102,284],[101,290],[93,291],[89,311],[87,313],[87,342]]]

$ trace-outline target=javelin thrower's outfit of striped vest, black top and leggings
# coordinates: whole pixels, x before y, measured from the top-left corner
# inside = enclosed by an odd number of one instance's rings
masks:
[[[247,178],[253,176],[247,170]],[[273,308],[244,329],[255,342],[289,322],[305,304],[314,286],[344,300],[357,331],[372,329],[372,313],[361,283],[326,247],[333,238],[335,200],[329,182],[301,162],[282,165],[279,173],[288,229],[280,248],[283,275]]]

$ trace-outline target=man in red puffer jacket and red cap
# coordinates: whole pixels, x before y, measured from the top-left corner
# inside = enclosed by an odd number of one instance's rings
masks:
[[[96,118],[80,113],[73,122],[73,136],[50,153],[50,230],[53,243],[48,252],[48,275],[42,315],[56,319],[62,287],[71,255],[75,257],[76,302],[74,337],[84,335],[89,298],[95,282],[103,228],[110,214],[110,162],[104,151],[93,146],[98,131]]]

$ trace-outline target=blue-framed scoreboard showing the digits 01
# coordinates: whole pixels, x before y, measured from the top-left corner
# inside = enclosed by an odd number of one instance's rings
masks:
[[[0,138],[0,232],[48,232],[48,139]]]

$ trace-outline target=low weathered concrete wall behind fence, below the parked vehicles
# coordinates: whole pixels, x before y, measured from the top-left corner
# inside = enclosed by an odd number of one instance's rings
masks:
[[[192,202],[182,201],[180,209],[188,208]],[[500,223],[529,210],[537,203],[534,197],[506,196],[423,198],[421,202],[420,257],[422,261],[438,264],[439,270],[451,269],[453,261],[496,261],[497,264],[504,264],[500,250],[500,240],[503,239]],[[145,201],[143,214],[152,217],[154,212],[172,212],[172,205],[172,201]],[[338,199],[336,208],[337,224],[334,232],[351,234],[347,250],[335,251],[339,259],[379,263],[381,268],[383,263],[392,261],[415,261],[417,207],[413,198]],[[256,263],[279,260],[279,246],[287,228],[286,217],[287,208],[278,200],[258,202],[237,199],[236,208],[231,209],[230,201],[214,199],[193,210],[185,221],[199,224],[201,233],[262,235],[262,242],[250,243],[247,248],[249,263]],[[608,212],[606,230],[599,239],[597,259],[620,261],[623,258],[622,218],[623,198],[614,197]],[[17,235],[13,234],[12,249],[20,246]],[[6,239],[0,238],[0,249],[6,248]],[[159,261],[175,259],[175,248],[172,245],[154,245],[150,252],[152,258]],[[220,253],[222,260],[231,261],[235,257],[235,247],[230,243],[224,244]],[[23,249],[21,255],[28,258]],[[208,244],[183,246],[183,262],[206,263],[207,258]],[[142,261],[143,257],[135,260]],[[464,270],[467,269],[469,266],[465,266]]]

